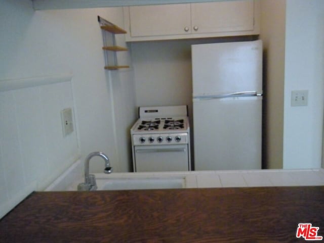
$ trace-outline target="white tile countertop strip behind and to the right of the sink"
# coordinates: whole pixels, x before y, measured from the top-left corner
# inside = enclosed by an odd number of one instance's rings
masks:
[[[324,185],[324,169],[137,172],[96,174],[96,178],[183,177],[185,188]]]

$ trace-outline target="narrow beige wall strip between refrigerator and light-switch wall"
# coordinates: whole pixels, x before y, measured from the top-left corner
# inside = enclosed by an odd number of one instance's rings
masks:
[[[284,134],[286,0],[261,1],[264,59],[263,163],[281,169]]]

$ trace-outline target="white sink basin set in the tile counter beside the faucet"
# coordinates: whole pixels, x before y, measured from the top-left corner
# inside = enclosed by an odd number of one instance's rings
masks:
[[[184,178],[97,179],[97,190],[134,190],[183,188]]]

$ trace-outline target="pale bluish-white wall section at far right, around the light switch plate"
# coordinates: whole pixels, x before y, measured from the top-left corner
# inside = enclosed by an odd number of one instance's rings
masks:
[[[284,168],[321,165],[324,104],[324,1],[287,0]],[[308,89],[308,106],[291,107],[291,91]]]

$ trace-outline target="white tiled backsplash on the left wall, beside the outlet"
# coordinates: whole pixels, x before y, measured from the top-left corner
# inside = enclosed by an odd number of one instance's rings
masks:
[[[74,107],[71,76],[58,83],[47,79],[44,85],[0,91],[0,218],[78,158],[76,129],[63,137],[61,125],[61,110]]]

